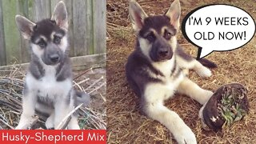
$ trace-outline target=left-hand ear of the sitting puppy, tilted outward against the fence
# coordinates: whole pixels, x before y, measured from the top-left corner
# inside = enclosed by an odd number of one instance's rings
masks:
[[[22,33],[22,36],[25,39],[30,39],[33,28],[35,26],[34,22],[31,22],[30,20],[26,19],[25,17],[22,17],[21,15],[15,16],[16,24],[18,26],[18,30]]]

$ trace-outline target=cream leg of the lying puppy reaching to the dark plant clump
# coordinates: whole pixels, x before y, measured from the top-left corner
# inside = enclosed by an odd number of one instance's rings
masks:
[[[202,105],[205,104],[210,97],[214,94],[210,90],[203,90],[196,83],[192,82],[189,78],[184,78],[178,86],[178,93],[186,94],[198,101]]]

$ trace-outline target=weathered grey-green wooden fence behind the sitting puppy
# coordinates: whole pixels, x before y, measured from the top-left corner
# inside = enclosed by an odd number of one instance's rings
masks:
[[[50,18],[58,1],[0,0],[0,66],[30,60],[29,45],[18,32],[15,15],[23,15],[34,22]],[[101,55],[106,58],[106,0],[63,2],[69,18],[70,56],[90,55],[95,61]]]

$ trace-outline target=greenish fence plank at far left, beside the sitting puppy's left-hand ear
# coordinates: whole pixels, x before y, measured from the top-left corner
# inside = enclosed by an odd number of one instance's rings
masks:
[[[6,41],[6,63],[21,62],[21,49],[19,32],[15,22],[17,1],[2,1],[4,34]]]

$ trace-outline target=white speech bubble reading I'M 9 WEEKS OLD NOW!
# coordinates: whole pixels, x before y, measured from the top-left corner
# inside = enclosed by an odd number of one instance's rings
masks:
[[[190,11],[182,21],[182,34],[198,46],[201,59],[214,51],[238,49],[254,37],[254,19],[230,5],[206,5]]]

